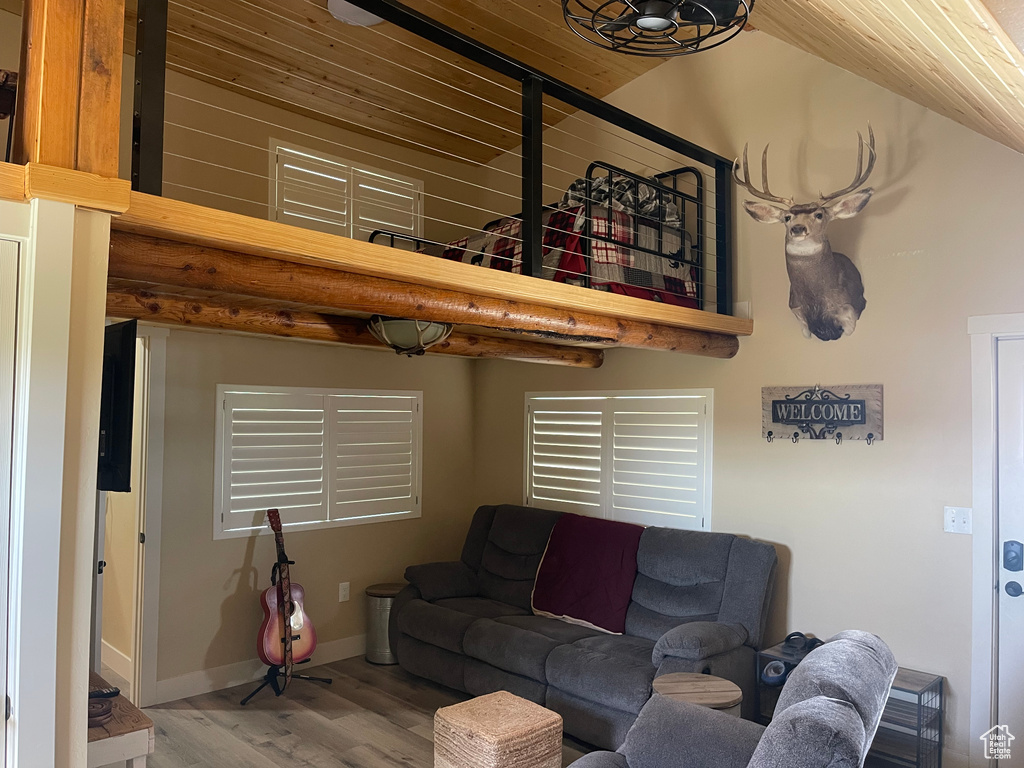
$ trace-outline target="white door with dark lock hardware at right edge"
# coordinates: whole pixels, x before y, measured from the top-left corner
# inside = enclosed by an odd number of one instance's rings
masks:
[[[1024,339],[1000,339],[996,355],[997,722],[1016,736],[1014,752],[1024,752]]]

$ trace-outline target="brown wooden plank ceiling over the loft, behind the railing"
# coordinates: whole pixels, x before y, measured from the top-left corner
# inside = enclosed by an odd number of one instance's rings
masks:
[[[598,97],[660,62],[581,40],[553,0],[409,5]],[[129,53],[135,24],[129,7]],[[327,0],[170,0],[168,28],[170,70],[291,112],[477,163],[520,142],[517,83],[393,25],[343,24]]]

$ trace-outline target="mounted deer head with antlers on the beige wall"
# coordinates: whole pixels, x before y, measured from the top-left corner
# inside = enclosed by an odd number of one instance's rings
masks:
[[[797,315],[804,336],[833,341],[852,334],[864,311],[864,286],[860,272],[842,253],[831,250],[825,233],[833,219],[848,219],[860,213],[874,190],[860,188],[874,169],[874,131],[867,127],[868,141],[857,133],[857,173],[853,183],[813,203],[781,198],[768,185],[768,147],[761,156],[763,188],[751,182],[746,146],[742,163],[736,158],[732,175],[736,183],[759,201],[744,201],[743,208],[757,221],[785,225],[785,266],[790,274],[790,308]],[[867,165],[864,166],[864,147]],[[742,175],[740,176],[740,169]]]

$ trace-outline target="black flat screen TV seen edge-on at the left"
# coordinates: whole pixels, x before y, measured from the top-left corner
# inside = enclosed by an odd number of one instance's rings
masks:
[[[138,321],[108,326],[103,339],[103,393],[99,403],[99,490],[131,490],[135,411],[135,332]]]

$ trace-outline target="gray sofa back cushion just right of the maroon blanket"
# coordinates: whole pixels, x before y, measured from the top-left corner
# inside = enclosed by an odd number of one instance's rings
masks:
[[[685,622],[718,621],[735,537],[645,528],[626,633],[657,640]]]

